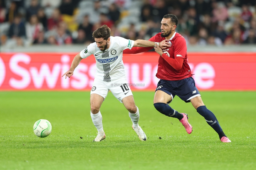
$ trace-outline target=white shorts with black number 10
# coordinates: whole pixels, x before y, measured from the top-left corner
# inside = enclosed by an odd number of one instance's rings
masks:
[[[105,100],[108,91],[110,90],[115,98],[122,103],[123,98],[132,95],[130,87],[128,87],[126,84],[126,77],[112,80],[111,82],[105,82],[95,78],[92,85],[91,94],[98,94]]]

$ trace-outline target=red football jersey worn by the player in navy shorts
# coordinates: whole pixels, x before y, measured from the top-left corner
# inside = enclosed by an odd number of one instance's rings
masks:
[[[161,42],[165,37],[161,37],[161,32],[150,38],[148,41]],[[186,41],[182,35],[175,32],[170,38],[171,46],[167,49],[163,49],[164,54],[170,58],[183,58],[182,69],[175,70],[162,56],[158,60],[158,69],[156,77],[163,80],[182,80],[184,78],[191,77],[191,70],[188,65],[188,55]],[[133,47],[131,50],[126,49],[123,51],[124,54],[136,54],[148,51],[153,47]]]

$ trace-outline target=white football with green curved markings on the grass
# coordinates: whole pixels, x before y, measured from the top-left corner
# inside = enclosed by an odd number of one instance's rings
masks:
[[[35,122],[33,130],[36,136],[45,138],[51,133],[52,125],[48,120],[40,119]]]

